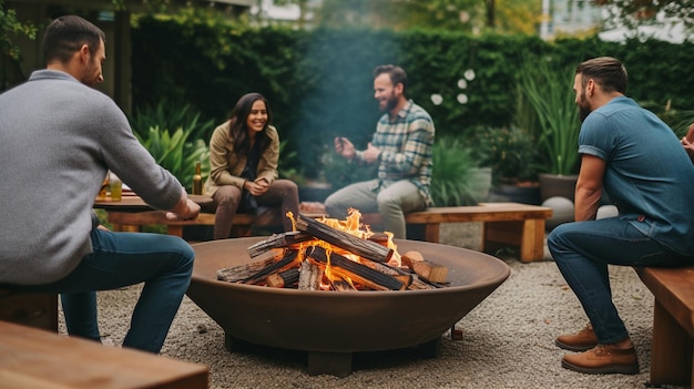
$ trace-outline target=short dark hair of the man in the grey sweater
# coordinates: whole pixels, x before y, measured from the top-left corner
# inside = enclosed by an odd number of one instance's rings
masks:
[[[96,25],[78,16],[64,16],[53,20],[43,34],[43,59],[65,63],[82,44],[94,55],[101,44],[106,43],[106,34]]]

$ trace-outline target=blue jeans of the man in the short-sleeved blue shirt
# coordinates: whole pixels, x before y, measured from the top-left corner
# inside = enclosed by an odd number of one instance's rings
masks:
[[[629,337],[612,303],[608,265],[673,267],[694,264],[694,257],[667,252],[620,217],[561,224],[550,233],[548,246],[593,325],[598,341],[603,345]]]

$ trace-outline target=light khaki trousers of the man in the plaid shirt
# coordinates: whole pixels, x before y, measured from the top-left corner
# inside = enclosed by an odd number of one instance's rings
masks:
[[[356,208],[363,214],[380,213],[384,229],[401,239],[405,239],[407,233],[405,214],[426,206],[417,185],[407,180],[355,183],[333,193],[325,201],[326,212],[336,218],[347,217],[349,208]]]

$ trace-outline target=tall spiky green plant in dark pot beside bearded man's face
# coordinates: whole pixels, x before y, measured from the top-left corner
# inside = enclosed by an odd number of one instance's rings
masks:
[[[539,174],[542,201],[562,196],[573,201],[579,166],[581,124],[572,90],[572,68],[549,59],[525,59],[519,83],[538,117],[537,136],[547,168]]]

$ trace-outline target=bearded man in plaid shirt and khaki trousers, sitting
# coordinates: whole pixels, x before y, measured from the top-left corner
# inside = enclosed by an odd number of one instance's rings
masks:
[[[344,218],[349,208],[378,212],[384,228],[396,238],[406,237],[405,214],[431,204],[431,149],[435,127],[431,116],[406,98],[407,74],[400,66],[374,70],[374,98],[385,114],[364,151],[346,137],[335,139],[335,151],[357,164],[378,164],[378,176],[348,185],[326,201],[331,217]]]

